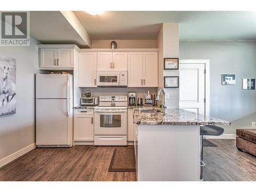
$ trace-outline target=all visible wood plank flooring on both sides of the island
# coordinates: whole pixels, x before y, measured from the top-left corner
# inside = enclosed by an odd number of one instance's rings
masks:
[[[205,181],[256,181],[255,157],[237,151],[235,140],[210,141],[218,147],[204,147]],[[135,172],[108,172],[114,148],[35,148],[1,167],[0,181],[135,181]]]

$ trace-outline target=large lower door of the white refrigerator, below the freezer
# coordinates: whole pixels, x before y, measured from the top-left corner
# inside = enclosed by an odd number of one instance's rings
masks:
[[[70,143],[67,99],[36,99],[36,145]]]

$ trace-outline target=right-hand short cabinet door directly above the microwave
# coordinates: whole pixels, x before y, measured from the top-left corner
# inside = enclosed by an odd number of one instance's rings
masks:
[[[127,52],[113,52],[113,70],[127,70]]]

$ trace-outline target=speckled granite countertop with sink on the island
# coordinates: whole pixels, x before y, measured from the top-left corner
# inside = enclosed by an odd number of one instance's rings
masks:
[[[180,109],[152,109],[160,112],[142,112],[140,108],[134,108],[134,122],[136,124],[170,124],[170,125],[230,125],[230,122],[204,115],[198,115]],[[142,108],[148,109],[148,108]]]

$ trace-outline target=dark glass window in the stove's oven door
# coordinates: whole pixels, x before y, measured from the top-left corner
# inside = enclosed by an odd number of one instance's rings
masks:
[[[121,115],[100,115],[100,127],[121,127]]]

